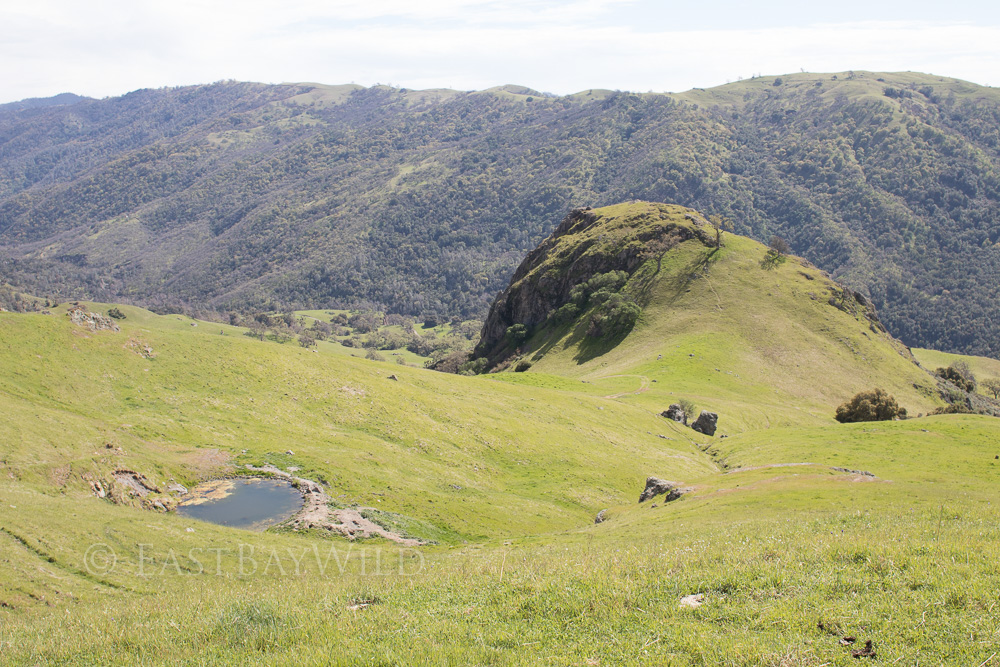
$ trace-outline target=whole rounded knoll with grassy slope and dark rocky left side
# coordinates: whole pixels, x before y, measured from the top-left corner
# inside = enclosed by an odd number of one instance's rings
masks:
[[[875,386],[914,415],[943,405],[937,380],[864,296],[801,258],[769,261],[752,239],[721,240],[675,205],[574,211],[493,304],[478,369],[527,368],[509,380],[524,384],[617,378],[622,400],[655,410],[685,398],[725,415],[728,433],[829,423],[837,403]],[[595,327],[616,302],[635,304],[631,321]]]

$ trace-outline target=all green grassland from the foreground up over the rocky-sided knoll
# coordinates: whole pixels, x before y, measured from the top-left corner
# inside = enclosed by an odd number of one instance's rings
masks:
[[[557,284],[559,257],[617,258],[627,280],[602,284],[641,312],[588,345],[617,303],[594,291],[527,333],[520,373],[130,306],[113,322],[85,316],[99,303],[0,313],[4,662],[988,664],[995,419],[836,423],[875,382],[911,415],[942,404],[856,297],[831,304],[840,287],[795,257],[765,268],[750,239],[711,247],[688,209],[586,213],[529,257],[524,285]],[[619,244],[638,237],[630,264]],[[661,417],[678,397],[717,411],[719,432]],[[267,463],[435,543],[157,506],[172,484]],[[648,476],[683,494],[637,503]]]

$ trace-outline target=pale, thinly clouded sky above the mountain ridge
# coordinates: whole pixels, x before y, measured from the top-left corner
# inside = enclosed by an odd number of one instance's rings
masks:
[[[680,92],[851,69],[1000,85],[1000,3],[0,0],[0,103],[224,79]]]

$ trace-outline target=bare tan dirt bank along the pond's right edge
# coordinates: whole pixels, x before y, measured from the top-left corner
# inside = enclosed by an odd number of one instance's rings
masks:
[[[405,547],[417,547],[425,544],[421,540],[403,537],[399,533],[387,530],[374,521],[366,519],[360,512],[360,510],[366,508],[331,508],[330,496],[327,495],[322,486],[310,479],[295,477],[291,473],[287,473],[272,465],[266,465],[261,468],[247,465],[246,468],[255,472],[271,473],[277,477],[293,481],[302,493],[302,509],[296,512],[291,519],[280,524],[282,526],[288,526],[295,530],[305,530],[307,528],[330,530],[340,533],[349,540],[382,537]]]

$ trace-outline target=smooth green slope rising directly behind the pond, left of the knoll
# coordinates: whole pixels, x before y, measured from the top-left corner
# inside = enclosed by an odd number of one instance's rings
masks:
[[[682,476],[711,467],[687,441],[627,437],[627,424],[660,424],[600,397],[512,392],[122,310],[120,332],[76,327],[64,309],[0,320],[8,477],[86,497],[117,468],[165,488],[273,462],[320,475],[345,502],[484,537],[585,523],[665,461]],[[136,351],[146,346],[151,358]],[[597,411],[599,428],[586,419]]]

